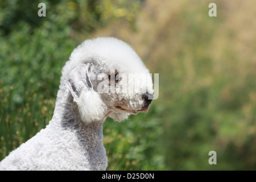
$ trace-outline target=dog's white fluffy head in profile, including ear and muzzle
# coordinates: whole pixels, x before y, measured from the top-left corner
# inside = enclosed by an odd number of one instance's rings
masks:
[[[79,106],[83,121],[99,121],[106,114],[122,121],[150,107],[151,74],[135,51],[121,40],[85,41],[73,51],[69,62],[67,65],[76,63],[76,67],[65,77],[64,86]]]

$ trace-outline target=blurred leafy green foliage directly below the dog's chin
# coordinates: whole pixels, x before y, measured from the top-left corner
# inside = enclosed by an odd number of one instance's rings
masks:
[[[147,114],[131,115],[127,121],[106,119],[104,146],[109,170],[164,170],[164,151],[157,147],[163,134],[161,107],[151,106]]]

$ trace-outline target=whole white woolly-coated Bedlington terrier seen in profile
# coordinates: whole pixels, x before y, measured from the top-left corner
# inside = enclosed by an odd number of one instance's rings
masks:
[[[85,40],[62,69],[52,120],[16,148],[1,170],[105,170],[106,117],[146,112],[152,77],[137,53],[115,38]]]

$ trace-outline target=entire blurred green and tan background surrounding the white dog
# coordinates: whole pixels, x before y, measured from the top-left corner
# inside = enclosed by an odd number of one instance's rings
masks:
[[[38,4],[46,4],[46,17]],[[209,3],[217,5],[210,17]],[[51,120],[61,68],[82,41],[131,44],[159,98],[107,119],[108,170],[256,169],[256,1],[0,2],[0,160]],[[217,164],[208,163],[216,151]]]

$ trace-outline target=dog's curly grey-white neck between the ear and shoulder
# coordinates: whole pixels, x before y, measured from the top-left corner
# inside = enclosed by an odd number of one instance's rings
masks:
[[[64,135],[63,137],[75,136],[73,137],[75,143],[82,147],[81,153],[89,162],[90,169],[105,170],[108,159],[103,145],[102,125],[108,113],[100,121],[84,122],[71,94],[65,90],[60,90],[57,95],[61,97],[57,97],[55,112],[49,126],[55,130],[60,130],[61,133],[67,133],[67,136]]]

